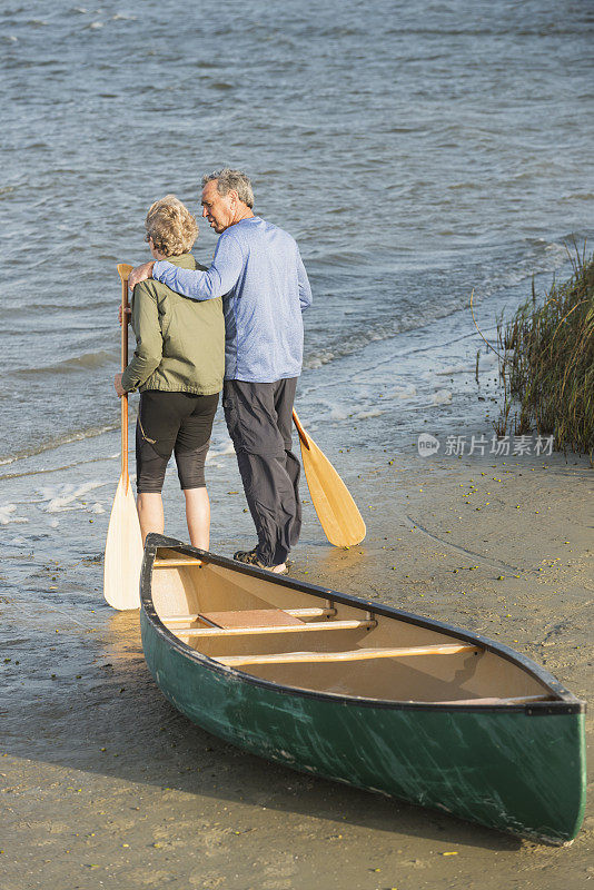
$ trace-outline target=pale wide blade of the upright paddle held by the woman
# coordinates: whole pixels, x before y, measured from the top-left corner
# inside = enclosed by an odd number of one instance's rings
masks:
[[[110,606],[119,610],[140,606],[141,564],[140,524],[130,481],[126,474],[120,476],[118,483],[107,532],[103,595]]]

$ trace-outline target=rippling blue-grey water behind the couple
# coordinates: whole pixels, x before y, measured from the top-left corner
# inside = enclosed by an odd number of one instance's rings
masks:
[[[483,352],[487,416],[471,293],[493,338],[531,277],[541,291],[565,277],[565,244],[594,231],[591,2],[7,0],[0,22],[9,587],[56,602],[48,558],[101,553],[119,476],[116,264],[149,258],[156,198],[199,214],[200,177],[224,165],[299,243],[314,305],[298,407],[346,478],[347,447],[492,432],[496,365]],[[202,224],[198,259],[215,244]],[[220,416],[209,468],[214,545],[241,521],[250,544]],[[184,535],[179,515],[168,531]]]

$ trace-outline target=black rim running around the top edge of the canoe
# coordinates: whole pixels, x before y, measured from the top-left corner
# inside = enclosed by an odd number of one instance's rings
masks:
[[[581,714],[585,713],[586,703],[577,699],[573,693],[566,690],[558,680],[541,668],[536,662],[533,662],[525,655],[522,655],[518,652],[506,646],[504,643],[498,643],[494,640],[489,640],[488,637],[481,636],[479,634],[473,634],[472,632],[467,632],[462,630],[461,627],[456,627],[449,624],[445,624],[443,622],[426,619],[422,615],[416,615],[410,612],[404,612],[399,609],[395,609],[389,605],[385,605],[382,603],[377,603],[375,601],[369,600],[362,600],[357,596],[353,596],[350,594],[339,593],[338,591],[328,590],[327,587],[320,587],[315,584],[310,584],[309,582],[305,581],[296,581],[295,578],[289,578],[286,576],[275,576],[274,582],[279,586],[289,587],[291,590],[298,591],[300,593],[307,593],[310,595],[319,596],[324,600],[334,600],[337,603],[341,603],[344,605],[355,606],[357,609],[363,609],[365,611],[372,611],[377,613],[378,615],[383,615],[384,617],[396,619],[398,621],[406,622],[408,624],[415,624],[420,627],[425,627],[428,630],[436,630],[439,632],[447,633],[451,636],[454,636],[458,640],[463,640],[467,643],[473,643],[478,645],[481,649],[492,652],[499,657],[509,661],[527,673],[529,673],[534,679],[538,682],[543,683],[547,689],[551,691],[551,694],[560,696],[558,701],[544,701],[544,702],[533,702],[533,703],[516,703],[509,704],[504,703],[501,704],[493,703],[493,704],[472,704],[468,701],[465,701],[463,704],[457,704],[456,702],[415,702],[415,701],[395,701],[393,699],[369,699],[363,698],[357,695],[345,695],[335,692],[321,692],[319,690],[308,690],[301,686],[290,686],[285,685],[283,683],[276,683],[270,680],[265,680],[263,678],[254,676],[254,674],[247,673],[241,671],[237,668],[231,668],[220,662],[216,661],[215,659],[205,655],[201,652],[198,652],[195,649],[191,649],[187,643],[184,643],[176,636],[172,631],[167,627],[162,621],[160,620],[159,615],[155,610],[155,605],[152,603],[152,593],[151,593],[151,581],[152,581],[152,564],[157,554],[157,550],[159,547],[167,547],[168,550],[177,551],[184,555],[194,556],[198,560],[201,560],[205,563],[212,563],[214,565],[219,565],[224,568],[230,568],[231,571],[239,573],[239,574],[248,574],[253,577],[260,577],[264,581],[270,581],[270,573],[266,572],[265,570],[257,568],[255,566],[242,565],[237,563],[235,560],[229,560],[225,556],[218,556],[210,552],[200,551],[196,547],[190,546],[189,544],[184,544],[181,541],[177,538],[166,537],[164,535],[158,535],[151,533],[147,536],[147,541],[145,544],[145,556],[142,560],[142,570],[140,573],[140,609],[145,612],[147,620],[154,626],[155,631],[159,633],[160,636],[165,639],[167,644],[174,649],[176,649],[180,654],[182,654],[186,659],[196,662],[201,668],[214,671],[225,676],[234,676],[234,679],[241,681],[244,683],[249,683],[250,685],[263,686],[268,690],[276,690],[281,691],[288,695],[297,695],[297,696],[305,696],[308,699],[317,699],[317,700],[325,700],[328,702],[336,702],[343,705],[354,705],[357,708],[375,708],[375,709],[390,709],[390,710],[410,710],[410,711],[454,711],[456,713],[463,711],[472,711],[475,713],[488,713],[489,711],[493,712],[512,712],[512,713],[523,713],[529,716],[538,716],[538,715],[551,715],[551,714]]]

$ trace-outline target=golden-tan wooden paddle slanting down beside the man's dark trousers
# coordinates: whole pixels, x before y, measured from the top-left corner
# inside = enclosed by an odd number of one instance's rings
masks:
[[[299,434],[301,461],[311,503],[326,537],[337,547],[350,547],[365,537],[365,523],[350,492],[324,452],[307,435],[296,412],[293,422]]]

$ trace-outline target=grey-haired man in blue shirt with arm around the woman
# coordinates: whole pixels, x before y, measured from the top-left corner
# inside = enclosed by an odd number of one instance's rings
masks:
[[[301,525],[291,414],[311,289],[296,241],[254,215],[245,174],[218,170],[202,186],[202,216],[220,235],[210,268],[146,263],[130,287],[152,277],[190,299],[224,297],[222,406],[258,534],[256,547],[234,558],[285,574]]]

